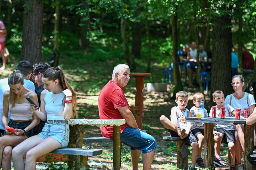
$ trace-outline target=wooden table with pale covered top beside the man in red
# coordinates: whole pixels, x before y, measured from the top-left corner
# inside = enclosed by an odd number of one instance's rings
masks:
[[[109,119],[70,119],[68,124],[71,126],[113,126],[114,127],[114,137],[113,137],[113,168],[115,170],[120,170],[121,168],[121,140],[120,140],[120,125],[125,124],[124,119],[116,119],[116,120],[109,120]],[[84,129],[84,127],[83,127]],[[83,130],[84,132],[84,130]],[[78,132],[77,132],[78,133]],[[71,137],[71,136],[70,136]],[[83,141],[83,135],[79,136],[79,139],[76,141]],[[70,141],[70,140],[69,140]],[[76,142],[75,141],[75,142]]]

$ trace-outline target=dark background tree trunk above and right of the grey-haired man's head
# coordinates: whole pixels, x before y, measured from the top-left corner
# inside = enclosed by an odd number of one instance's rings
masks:
[[[140,58],[140,49],[141,49],[141,37],[142,37],[142,21],[139,18],[140,11],[143,8],[140,7],[141,1],[137,1],[136,7],[136,21],[133,23],[133,30],[132,30],[132,55],[135,58]],[[146,21],[147,22],[147,21]]]

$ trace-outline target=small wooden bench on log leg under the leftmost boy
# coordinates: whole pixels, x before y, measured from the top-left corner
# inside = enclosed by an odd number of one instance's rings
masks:
[[[179,169],[188,169],[188,156],[182,158],[180,149],[183,146],[184,142],[180,137],[163,137],[165,142],[176,142],[177,144],[177,168]]]

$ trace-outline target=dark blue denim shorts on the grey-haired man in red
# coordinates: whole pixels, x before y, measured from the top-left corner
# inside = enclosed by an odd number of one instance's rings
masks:
[[[138,149],[142,153],[148,153],[157,148],[154,137],[131,127],[126,127],[121,133],[121,141],[130,146],[131,150]]]

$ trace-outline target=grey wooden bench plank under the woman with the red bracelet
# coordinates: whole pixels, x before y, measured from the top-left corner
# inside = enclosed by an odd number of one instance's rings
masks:
[[[102,154],[101,149],[83,149],[83,148],[60,148],[51,153],[60,153],[67,155],[96,156]]]

